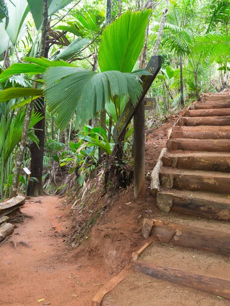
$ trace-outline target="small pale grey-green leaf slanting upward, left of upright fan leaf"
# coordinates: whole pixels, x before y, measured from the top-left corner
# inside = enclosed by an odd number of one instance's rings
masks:
[[[62,50],[58,56],[56,56],[55,60],[63,59],[67,61],[74,55],[79,54],[81,49],[86,46],[86,44],[89,42],[89,39],[87,38],[81,38],[78,37],[75,39],[70,45],[68,45],[64,50]]]

